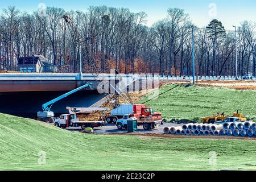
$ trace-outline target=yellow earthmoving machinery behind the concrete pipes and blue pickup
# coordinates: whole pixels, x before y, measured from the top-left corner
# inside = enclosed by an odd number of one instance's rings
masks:
[[[237,117],[240,119],[240,121],[246,121],[246,118],[243,117],[243,115],[241,113],[238,112],[237,110],[237,113],[233,113],[233,115],[225,115],[225,113],[220,113],[220,112],[217,112],[217,115],[216,114],[213,114],[211,117],[205,117],[202,119],[202,122],[203,123],[214,123],[214,122],[217,122],[217,121],[222,121],[226,118],[230,118],[230,117]]]

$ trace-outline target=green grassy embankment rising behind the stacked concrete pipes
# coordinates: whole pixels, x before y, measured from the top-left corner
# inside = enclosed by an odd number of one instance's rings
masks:
[[[166,119],[201,119],[216,114],[217,111],[232,115],[237,110],[249,119],[256,118],[256,91],[213,88],[200,86],[178,86],[170,84],[161,88],[156,100],[146,104],[163,113]],[[167,92],[170,90],[169,92]],[[148,96],[140,103],[148,101]]]

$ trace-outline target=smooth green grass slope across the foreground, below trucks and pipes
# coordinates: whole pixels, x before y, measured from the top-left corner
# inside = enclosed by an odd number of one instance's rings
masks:
[[[256,168],[255,140],[89,135],[5,114],[0,114],[0,144],[0,170]],[[40,151],[46,152],[46,164],[38,163]],[[213,165],[210,151],[217,154]]]

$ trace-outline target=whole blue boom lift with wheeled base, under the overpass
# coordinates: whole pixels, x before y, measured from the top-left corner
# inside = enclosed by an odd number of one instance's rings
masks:
[[[83,85],[83,86],[80,86],[79,88],[77,89],[74,89],[68,93],[65,93],[49,102],[47,102],[46,104],[43,104],[42,105],[42,111],[39,111],[38,112],[38,120],[39,121],[44,121],[44,122],[53,122],[54,121],[54,113],[51,111],[51,107],[52,105],[57,102],[57,101],[60,101],[61,99],[65,98],[65,97],[68,97],[69,95],[73,94],[73,93],[76,93],[78,92],[79,90],[82,90],[82,89],[85,89],[85,88],[89,88],[89,89],[92,89],[92,86],[91,84],[86,84],[86,85]]]

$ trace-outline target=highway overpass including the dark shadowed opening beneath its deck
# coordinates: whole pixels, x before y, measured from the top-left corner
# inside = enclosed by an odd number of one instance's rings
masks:
[[[130,80],[135,77],[126,75]],[[115,75],[101,74],[101,81],[114,81]],[[90,107],[104,98],[97,92],[97,81],[92,74],[67,73],[1,73],[0,113],[36,118],[42,104],[86,84],[92,83],[93,90],[82,90],[54,104],[51,108],[56,116],[68,113],[66,107]]]

